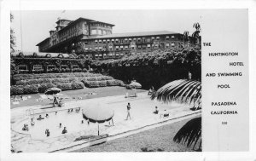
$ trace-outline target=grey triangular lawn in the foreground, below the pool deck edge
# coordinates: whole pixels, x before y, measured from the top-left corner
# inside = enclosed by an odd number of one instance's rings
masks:
[[[172,141],[178,129],[190,119],[149,129],[93,147],[84,147],[73,152],[195,152],[183,144]]]

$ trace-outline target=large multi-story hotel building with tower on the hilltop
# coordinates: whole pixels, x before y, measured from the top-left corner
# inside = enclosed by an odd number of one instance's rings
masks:
[[[79,18],[57,20],[55,31],[38,43],[39,52],[70,53],[91,59],[117,59],[154,49],[181,49],[201,43],[194,37],[184,41],[177,32],[113,33],[113,24]]]

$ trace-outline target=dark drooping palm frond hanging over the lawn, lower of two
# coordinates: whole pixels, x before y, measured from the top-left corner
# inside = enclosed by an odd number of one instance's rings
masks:
[[[193,118],[188,123],[184,124],[181,129],[177,131],[173,141],[177,143],[183,143],[187,147],[193,146],[193,149],[197,147],[201,148],[201,143],[198,145],[198,141],[201,139],[201,117]],[[194,145],[193,145],[194,144]]]

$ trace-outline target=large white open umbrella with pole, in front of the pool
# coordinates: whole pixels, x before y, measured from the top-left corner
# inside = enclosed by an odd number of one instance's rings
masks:
[[[83,108],[83,106],[81,106]],[[113,123],[113,109],[108,106],[85,106],[83,108],[83,118],[89,120],[91,123],[98,124],[98,135],[100,135],[99,124],[112,120]]]

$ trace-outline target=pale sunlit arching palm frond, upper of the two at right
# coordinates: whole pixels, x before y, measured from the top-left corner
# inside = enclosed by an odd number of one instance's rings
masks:
[[[165,103],[180,101],[182,103],[201,104],[201,82],[195,80],[179,79],[167,83],[158,89],[151,99],[157,99]]]

